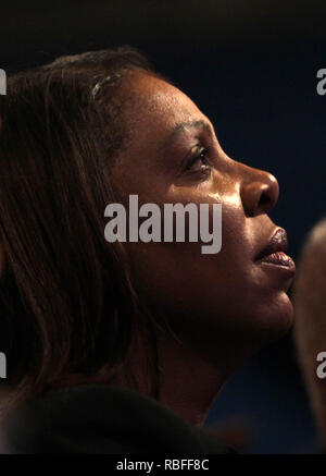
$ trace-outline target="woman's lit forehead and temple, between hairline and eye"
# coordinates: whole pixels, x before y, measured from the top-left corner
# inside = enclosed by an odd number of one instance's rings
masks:
[[[164,174],[163,170],[171,170],[170,158],[174,156],[166,144],[174,131],[183,123],[209,121],[188,96],[163,80],[137,73],[123,88],[127,139],[117,151],[112,182],[123,194],[165,188],[164,178],[170,172]],[[184,141],[185,151],[190,148],[187,133]]]

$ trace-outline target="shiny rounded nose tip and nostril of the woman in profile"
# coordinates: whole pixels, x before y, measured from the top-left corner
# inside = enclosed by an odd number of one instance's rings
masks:
[[[267,213],[279,195],[278,182],[274,175],[244,166],[246,172],[240,187],[243,209],[247,216]]]

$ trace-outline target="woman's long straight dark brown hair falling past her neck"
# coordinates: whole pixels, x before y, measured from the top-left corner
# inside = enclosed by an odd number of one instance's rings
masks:
[[[104,241],[103,211],[115,202],[110,170],[127,137],[121,86],[139,69],[156,75],[124,47],[62,57],[8,81],[0,105],[7,405],[108,381],[130,349],[137,295],[122,245]],[[154,333],[149,320],[142,325]]]

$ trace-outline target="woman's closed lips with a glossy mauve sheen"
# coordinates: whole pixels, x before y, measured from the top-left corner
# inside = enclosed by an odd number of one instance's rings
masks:
[[[255,261],[267,266],[279,267],[294,274],[296,264],[292,258],[286,254],[287,247],[287,232],[283,228],[278,228],[269,239],[267,246],[256,256]]]

